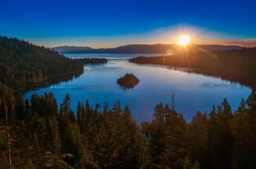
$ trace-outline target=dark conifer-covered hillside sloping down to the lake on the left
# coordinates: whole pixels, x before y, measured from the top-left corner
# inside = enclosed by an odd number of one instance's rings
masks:
[[[0,36],[0,82],[13,89],[63,74],[79,74],[83,66],[57,52],[17,38]]]

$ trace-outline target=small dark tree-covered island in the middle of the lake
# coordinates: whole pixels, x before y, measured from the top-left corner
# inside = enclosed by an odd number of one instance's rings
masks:
[[[132,73],[127,73],[125,76],[117,79],[117,83],[126,89],[132,89],[139,83],[139,78],[134,76]]]

